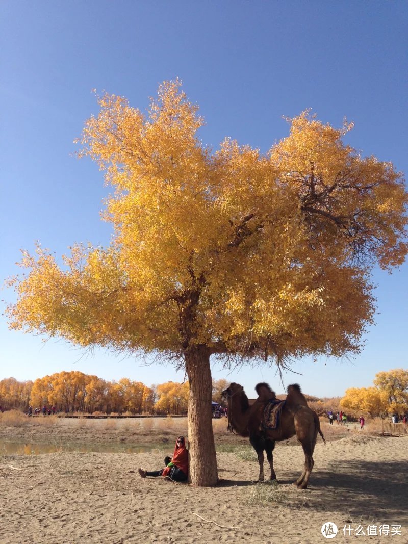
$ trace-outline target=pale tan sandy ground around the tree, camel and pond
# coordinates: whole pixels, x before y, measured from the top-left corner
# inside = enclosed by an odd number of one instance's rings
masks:
[[[144,443],[153,437],[154,443],[162,441],[162,447],[152,453],[3,453],[0,542],[314,544],[328,541],[321,529],[329,522],[338,527],[334,542],[408,542],[407,437],[381,438],[351,431],[343,432],[341,438],[331,436],[337,440],[327,441],[326,446],[319,439],[311,485],[304,491],[291,485],[301,472],[302,449],[286,443],[275,449],[278,486],[255,484],[257,461],[243,460],[237,453],[217,454],[220,483],[214,488],[141,479],[139,466],[162,467],[164,454],[171,454],[174,446],[169,436],[177,436],[180,425],[175,423],[169,432],[143,431],[140,425]],[[45,440],[55,438],[58,428],[50,427],[48,432],[32,426],[0,429],[0,437],[33,438],[36,434]],[[82,441],[102,436],[94,424],[81,428],[70,423],[63,430]],[[339,432],[328,424],[323,431]],[[125,432],[132,434],[129,425],[126,431],[115,425],[110,438],[121,440]],[[215,436],[218,444],[246,443],[220,430]],[[380,536],[380,528],[386,531],[387,525],[388,535]],[[401,535],[393,534],[396,531]]]

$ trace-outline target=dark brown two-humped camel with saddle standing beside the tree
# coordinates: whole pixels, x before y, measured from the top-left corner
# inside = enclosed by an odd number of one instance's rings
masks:
[[[263,452],[266,451],[270,466],[270,479],[276,480],[273,463],[273,450],[275,442],[288,440],[296,435],[302,444],[305,453],[305,467],[300,477],[295,481],[299,489],[305,489],[308,484],[310,473],[314,465],[313,452],[316,445],[316,438],[320,430],[320,422],[317,413],[307,406],[305,396],[302,394],[298,384],[289,385],[287,397],[283,405],[280,425],[276,429],[263,428],[264,410],[271,399],[276,395],[268,384],[258,384],[256,387],[258,398],[250,406],[244,388],[239,384],[230,384],[222,395],[227,399],[228,424],[231,431],[241,436],[249,436],[259,462],[259,481],[264,479],[263,474]]]

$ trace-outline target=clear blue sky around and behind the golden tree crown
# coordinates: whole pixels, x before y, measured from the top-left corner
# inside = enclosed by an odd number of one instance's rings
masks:
[[[407,20],[406,2],[3,0],[0,279],[18,271],[20,248],[32,251],[35,240],[58,257],[73,242],[109,243],[102,174],[72,156],[73,139],[97,112],[94,88],[144,109],[160,82],[180,77],[206,119],[201,138],[215,149],[230,136],[267,151],[288,134],[282,115],[306,108],[337,127],[345,116],[355,122],[349,144],[407,172]],[[285,385],[342,395],[372,385],[380,370],[407,368],[407,279],[406,264],[375,274],[379,314],[360,356],[297,362],[302,376],[286,374]],[[146,385],[183,379],[170,365],[43,344],[9,331],[0,316],[0,379],[61,370]],[[265,366],[214,367],[213,376],[240,382],[250,397],[258,381],[282,391]]]

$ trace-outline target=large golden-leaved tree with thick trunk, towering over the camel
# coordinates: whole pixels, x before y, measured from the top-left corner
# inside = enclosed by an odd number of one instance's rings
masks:
[[[373,322],[370,267],[407,251],[403,176],[343,144],[350,125],[308,112],[265,155],[230,139],[213,152],[178,81],[160,85],[147,116],[119,96],[99,104],[81,154],[115,189],[112,243],[75,245],[64,267],[24,252],[11,327],[183,366],[189,476],[214,485],[210,357],[357,353]]]

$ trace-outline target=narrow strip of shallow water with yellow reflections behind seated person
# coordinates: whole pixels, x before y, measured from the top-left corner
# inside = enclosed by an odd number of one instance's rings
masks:
[[[146,453],[156,449],[152,446],[129,446],[129,444],[84,444],[63,442],[45,444],[34,442],[7,442],[0,440],[0,454],[40,455],[56,452],[97,452],[97,453]]]

